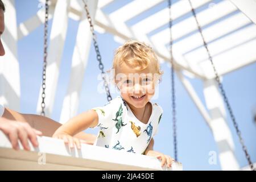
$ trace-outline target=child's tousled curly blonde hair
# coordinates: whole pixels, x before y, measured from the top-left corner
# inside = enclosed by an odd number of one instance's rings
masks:
[[[126,63],[131,68],[138,69],[139,71],[151,65],[153,73],[159,74],[159,80],[163,74],[153,49],[137,40],[129,40],[115,50],[112,68],[117,70],[122,63]]]

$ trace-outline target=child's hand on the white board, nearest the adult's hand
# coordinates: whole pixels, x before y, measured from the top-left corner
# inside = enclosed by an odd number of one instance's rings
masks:
[[[63,139],[64,143],[68,144],[70,148],[74,148],[74,146],[76,145],[77,149],[79,150],[81,149],[80,139],[72,137],[71,135],[64,134],[64,133],[60,133],[60,134],[56,133],[56,134],[53,134],[52,138]]]

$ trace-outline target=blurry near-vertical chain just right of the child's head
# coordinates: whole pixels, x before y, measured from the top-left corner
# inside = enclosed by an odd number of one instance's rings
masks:
[[[176,103],[175,103],[175,82],[174,82],[174,56],[172,53],[172,44],[173,44],[173,39],[172,39],[172,16],[171,16],[171,6],[172,6],[172,1],[168,0],[168,7],[169,7],[169,28],[170,28],[170,53],[171,53],[171,82],[172,82],[172,127],[173,127],[173,137],[174,137],[174,157],[175,160],[177,161],[177,128],[176,128]]]

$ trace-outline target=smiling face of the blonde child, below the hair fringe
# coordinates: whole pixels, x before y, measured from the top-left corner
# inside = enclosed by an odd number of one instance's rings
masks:
[[[152,72],[148,66],[142,71],[129,67],[126,63],[121,64],[115,75],[122,98],[137,108],[144,107],[155,94],[155,85],[158,75]]]

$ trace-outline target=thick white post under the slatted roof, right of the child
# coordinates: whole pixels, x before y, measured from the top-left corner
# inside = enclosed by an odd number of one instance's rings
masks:
[[[212,118],[209,126],[218,146],[221,168],[222,170],[238,170],[240,167],[234,155],[232,134],[226,123],[224,102],[214,80],[204,80],[204,97]]]

